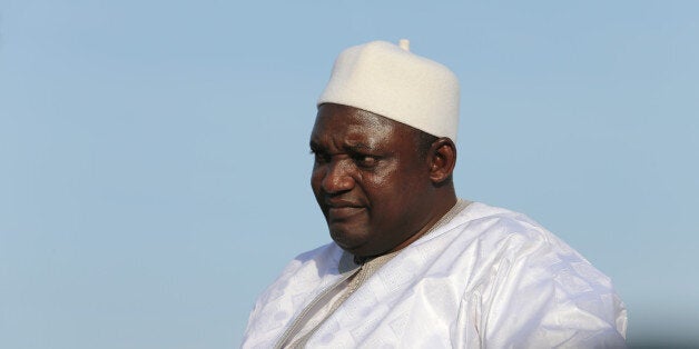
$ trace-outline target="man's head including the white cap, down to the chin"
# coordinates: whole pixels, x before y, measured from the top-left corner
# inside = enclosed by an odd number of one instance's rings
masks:
[[[311,136],[311,185],[338,246],[360,257],[398,250],[455,203],[457,122],[456,77],[406,42],[341,53]]]

